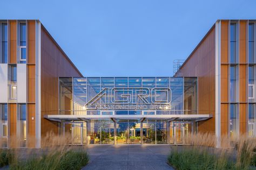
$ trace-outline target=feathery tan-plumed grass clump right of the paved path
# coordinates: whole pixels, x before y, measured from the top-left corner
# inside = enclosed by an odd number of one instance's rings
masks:
[[[172,147],[172,159],[179,160],[180,157],[187,158],[192,157],[193,155],[194,158],[191,158],[191,161],[193,161],[197,157],[200,157],[201,159],[207,157],[206,161],[208,161],[208,159],[214,159],[214,167],[220,168],[222,166],[223,168],[221,169],[226,169],[227,167],[231,167],[231,165],[234,165],[233,167],[235,169],[248,169],[251,166],[256,165],[255,137],[251,138],[244,135],[235,138],[228,138],[227,136],[223,136],[221,137],[220,148],[215,148],[217,138],[212,133],[189,134],[184,140],[186,143],[191,145]],[[179,160],[179,162],[183,161],[184,158]],[[185,162],[180,163],[185,164]]]

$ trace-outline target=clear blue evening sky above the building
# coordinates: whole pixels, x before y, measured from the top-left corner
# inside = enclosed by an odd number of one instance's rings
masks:
[[[256,1],[1,0],[1,19],[39,19],[84,76],[172,76],[217,19]]]

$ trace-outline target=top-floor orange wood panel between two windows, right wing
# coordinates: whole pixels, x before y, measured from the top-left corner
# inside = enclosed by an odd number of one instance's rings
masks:
[[[246,63],[247,55],[247,21],[240,20],[239,22],[239,62]]]

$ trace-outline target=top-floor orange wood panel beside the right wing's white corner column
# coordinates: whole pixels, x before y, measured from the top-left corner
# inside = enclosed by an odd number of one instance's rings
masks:
[[[221,63],[228,63],[228,21],[221,21]]]

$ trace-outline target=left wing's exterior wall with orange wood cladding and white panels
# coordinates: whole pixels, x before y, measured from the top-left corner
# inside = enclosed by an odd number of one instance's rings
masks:
[[[0,61],[0,88],[2,89],[0,104],[8,104],[7,147],[41,147],[41,135],[44,136],[50,131],[58,133],[58,124],[43,118],[45,114],[58,113],[58,77],[79,77],[82,74],[38,20],[0,20],[0,25],[2,22],[7,23],[8,30],[7,62]],[[21,22],[26,23],[25,63],[20,61],[19,24]],[[11,66],[17,66],[16,99],[11,99],[10,95]],[[21,139],[19,104],[26,104],[25,146],[19,140]],[[1,122],[0,125],[2,125]]]

